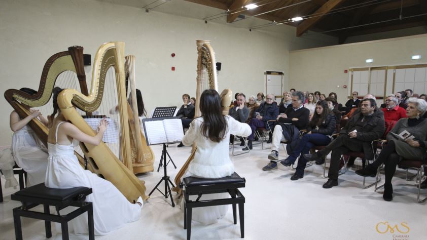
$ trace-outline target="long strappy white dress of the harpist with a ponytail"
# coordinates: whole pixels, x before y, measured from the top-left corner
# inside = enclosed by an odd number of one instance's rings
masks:
[[[59,126],[56,127],[55,139]],[[131,204],[126,197],[109,181],[84,170],[74,154],[74,146],[48,143],[49,163],[45,185],[50,188],[91,187],[92,194],[86,196],[93,203],[93,221],[96,235],[106,234],[120,228],[127,222],[139,219],[141,207]],[[68,222],[69,229],[75,233],[88,233],[87,214]]]

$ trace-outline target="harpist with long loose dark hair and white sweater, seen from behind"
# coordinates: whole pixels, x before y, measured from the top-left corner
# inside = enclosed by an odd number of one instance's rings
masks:
[[[246,137],[251,134],[252,130],[249,125],[240,123],[233,117],[223,115],[221,98],[216,90],[209,89],[202,93],[200,111],[202,115],[191,122],[182,141],[185,146],[197,144],[194,159],[188,166],[183,178],[189,176],[200,178],[230,176],[234,173],[234,165],[229,155],[230,134]],[[219,194],[221,197],[223,193]],[[209,198],[209,195],[206,198]],[[203,224],[211,224],[217,222],[226,212],[227,205],[195,208],[192,218]]]

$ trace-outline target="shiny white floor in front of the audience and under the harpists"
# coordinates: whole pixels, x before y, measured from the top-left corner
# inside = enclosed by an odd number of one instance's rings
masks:
[[[427,204],[416,202],[414,181],[406,181],[403,170],[398,170],[393,180],[394,200],[385,202],[382,190],[362,189],[362,177],[354,173],[360,161],[347,173],[340,176],[339,186],[323,189],[323,166],[308,167],[303,179],[291,181],[294,170],[278,169],[270,172],[261,170],[268,163],[270,150],[261,150],[254,144],[248,154],[234,156],[236,172],[246,178],[246,187],[241,192],[246,198],[244,212],[245,239],[427,239]],[[154,146],[155,168],[159,164],[161,146]],[[241,149],[241,147],[238,147]],[[280,149],[280,157],[284,157]],[[178,169],[167,166],[168,175],[175,175],[190,155],[191,148],[168,148]],[[230,151],[231,152],[231,151]],[[146,181],[147,194],[163,175],[152,172],[138,176]],[[4,179],[3,179],[4,180]],[[369,178],[368,181],[373,181]],[[4,181],[2,181],[4,183]],[[2,186],[4,188],[4,186]],[[4,202],[0,204],[0,239],[14,239],[12,209],[20,205],[11,201],[10,194],[16,190],[3,189]],[[427,190],[422,191],[427,195]],[[174,194],[175,202],[176,194]],[[114,207],[114,206],[112,206]],[[170,200],[155,191],[145,204],[141,218],[108,235],[97,239],[186,239],[183,212],[179,206],[172,208]],[[388,229],[398,226],[394,233]],[[408,228],[405,226],[408,226]],[[45,239],[43,221],[22,219],[24,239]],[[54,228],[53,228],[54,229]],[[52,239],[62,239],[53,232]],[[239,239],[240,226],[233,224],[233,214],[217,224],[203,226],[193,222],[192,239]],[[70,239],[87,239],[87,235],[70,234]]]

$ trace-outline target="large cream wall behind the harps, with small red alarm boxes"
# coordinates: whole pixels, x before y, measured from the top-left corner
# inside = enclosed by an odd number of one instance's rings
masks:
[[[88,0],[2,0],[0,8],[0,92],[29,87],[38,89],[46,60],[67,47],[80,45],[92,59],[104,42],[123,41],[125,53],[136,56],[137,88],[148,111],[156,106],[181,105],[181,95],[195,95],[196,39],[212,41],[220,91],[230,88],[246,95],[263,91],[264,71],[284,71],[288,87],[289,50],[325,46],[331,38],[296,38],[295,28],[284,33],[204,24],[191,19],[138,8]],[[291,29],[291,30],[290,30]],[[171,58],[170,54],[176,57]],[[171,71],[171,66],[176,70]],[[90,68],[86,68],[90,79]],[[90,86],[90,81],[88,83]],[[0,104],[0,131],[10,144],[9,112]]]

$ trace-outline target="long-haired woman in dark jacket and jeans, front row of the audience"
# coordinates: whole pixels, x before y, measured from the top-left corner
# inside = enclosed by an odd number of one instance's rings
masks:
[[[290,164],[293,164],[299,156],[298,166],[291,180],[298,180],[304,177],[304,169],[307,164],[307,159],[304,154],[314,146],[325,146],[331,142],[331,135],[335,132],[336,118],[334,113],[328,108],[326,101],[319,101],[316,104],[316,110],[308,123],[307,131],[300,144],[293,152],[289,153],[288,158],[284,159]]]

